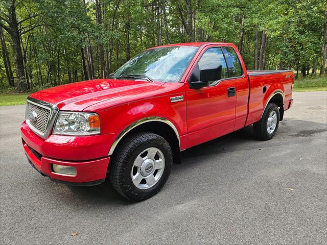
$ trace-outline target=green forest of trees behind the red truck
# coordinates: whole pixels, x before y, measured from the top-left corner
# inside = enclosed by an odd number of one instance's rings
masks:
[[[106,78],[178,42],[235,43],[247,69],[325,72],[326,0],[0,2],[0,85],[17,91]]]

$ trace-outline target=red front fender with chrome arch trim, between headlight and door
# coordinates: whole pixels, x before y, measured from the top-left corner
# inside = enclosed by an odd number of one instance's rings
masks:
[[[100,115],[102,134],[118,135],[109,150],[109,155],[127,132],[147,121],[165,122],[174,130],[178,138],[182,136],[185,136],[183,139],[186,138],[186,102],[185,100],[171,102],[171,97],[183,95],[185,98],[183,85],[183,83],[167,83],[163,85],[166,86],[167,92],[149,96],[146,99],[114,106],[96,104],[87,108]],[[180,140],[180,149],[185,148],[186,142],[184,141],[186,140]]]

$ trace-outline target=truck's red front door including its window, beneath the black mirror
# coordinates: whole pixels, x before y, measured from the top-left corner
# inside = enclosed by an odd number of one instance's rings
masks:
[[[188,84],[185,86],[187,148],[228,134],[234,129],[237,80],[228,75],[222,47],[207,47],[193,63],[193,69],[196,69],[197,65],[201,69],[206,65],[217,64],[222,66],[220,80],[209,81],[206,87],[199,89],[192,89]],[[189,76],[191,74],[192,72]]]

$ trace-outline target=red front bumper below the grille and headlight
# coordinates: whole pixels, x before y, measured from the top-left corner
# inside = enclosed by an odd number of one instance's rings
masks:
[[[83,186],[100,184],[106,178],[110,160],[108,151],[115,134],[86,137],[51,135],[44,140],[23,122],[21,137],[30,164],[43,176]],[[52,164],[73,166],[76,175],[55,173]]]

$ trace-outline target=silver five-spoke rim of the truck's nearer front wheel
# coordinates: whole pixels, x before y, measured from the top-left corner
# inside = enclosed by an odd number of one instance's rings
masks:
[[[165,157],[154,147],[148,148],[138,154],[132,167],[132,181],[139,189],[148,189],[154,186],[165,169]]]

